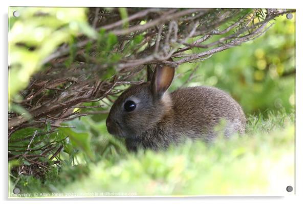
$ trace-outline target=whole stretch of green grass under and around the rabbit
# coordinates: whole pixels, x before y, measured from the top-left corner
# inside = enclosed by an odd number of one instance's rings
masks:
[[[294,186],[294,142],[294,114],[267,112],[248,118],[244,136],[187,141],[160,152],[108,151],[95,162],[54,167],[45,178],[21,175],[17,186],[24,193],[89,196],[284,195]]]

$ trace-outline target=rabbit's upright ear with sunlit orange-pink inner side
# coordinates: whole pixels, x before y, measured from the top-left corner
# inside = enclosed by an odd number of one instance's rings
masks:
[[[161,98],[171,85],[174,76],[174,67],[167,65],[156,66],[153,79],[151,81],[152,93],[156,98]]]

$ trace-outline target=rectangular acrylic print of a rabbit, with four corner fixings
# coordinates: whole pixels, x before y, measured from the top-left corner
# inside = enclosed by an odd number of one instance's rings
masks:
[[[10,7],[8,52],[9,197],[295,193],[295,10]]]

